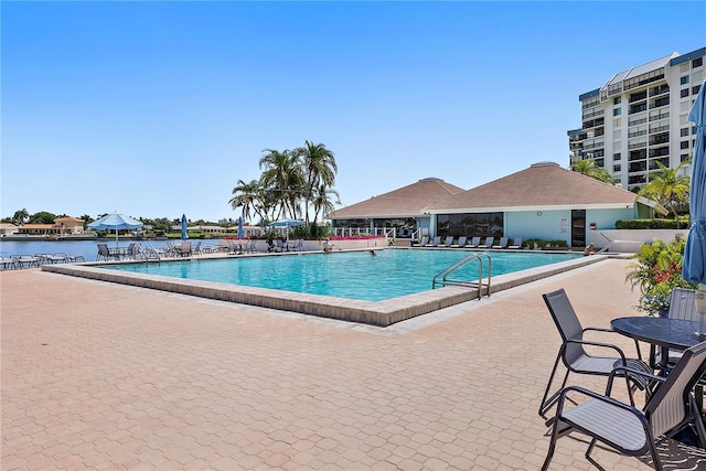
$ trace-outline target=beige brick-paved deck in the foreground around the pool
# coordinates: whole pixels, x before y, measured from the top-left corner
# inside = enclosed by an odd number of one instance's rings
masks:
[[[387,329],[3,271],[0,468],[535,470],[559,346],[541,295],[564,287],[585,325],[608,327],[637,314],[628,264]],[[561,439],[552,469],[590,469],[586,445]],[[650,469],[595,457],[608,470]]]

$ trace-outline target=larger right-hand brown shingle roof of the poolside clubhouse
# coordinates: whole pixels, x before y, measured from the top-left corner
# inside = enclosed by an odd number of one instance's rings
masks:
[[[535,163],[463,193],[429,204],[427,211],[473,212],[534,207],[620,207],[638,196],[621,188],[564,169],[554,162]]]

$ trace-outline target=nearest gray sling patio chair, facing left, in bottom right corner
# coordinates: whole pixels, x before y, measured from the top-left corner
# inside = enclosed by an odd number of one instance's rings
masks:
[[[689,421],[696,427],[702,447],[706,446],[700,410],[691,394],[705,370],[706,342],[702,342],[686,350],[666,377],[630,367],[618,367],[608,378],[605,395],[578,386],[563,389],[556,416],[549,420],[553,426],[552,439],[542,469],[549,467],[557,439],[573,431],[591,438],[586,459],[599,469],[602,468],[590,457],[597,441],[623,454],[643,456],[649,452],[656,470],[662,470],[656,445],[681,431]],[[659,382],[642,410],[610,397],[613,378],[628,375]],[[567,402],[577,405],[565,407]]]

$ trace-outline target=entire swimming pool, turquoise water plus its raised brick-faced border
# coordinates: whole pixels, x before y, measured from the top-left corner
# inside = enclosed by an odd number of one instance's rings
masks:
[[[397,253],[404,254],[407,251],[421,251],[427,253],[427,255],[419,257],[414,264],[405,257],[397,258],[393,255]],[[442,255],[443,253],[448,254]],[[450,265],[450,263],[468,255],[469,251],[467,250],[396,248],[377,250],[376,254],[376,257],[372,257],[367,250],[344,250],[325,255],[320,253],[310,253],[306,255],[239,255],[226,257],[233,258],[233,265],[224,264],[221,266],[221,269],[224,271],[247,274],[248,276],[255,275],[257,278],[263,280],[276,280],[275,286],[278,289],[233,285],[223,281],[207,281],[193,278],[188,279],[181,278],[181,275],[165,276],[157,275],[151,271],[160,266],[164,268],[171,266],[170,268],[175,269],[178,272],[185,272],[193,269],[201,269],[203,271],[215,270],[215,268],[208,267],[216,267],[216,265],[208,264],[218,263],[221,260],[217,258],[202,260],[202,258],[206,258],[207,256],[192,258],[191,261],[185,263],[183,260],[169,260],[161,264],[152,263],[149,267],[141,264],[125,263],[120,264],[120,269],[111,269],[116,267],[113,265],[106,265],[105,263],[86,263],[42,265],[41,269],[42,271],[128,285],[130,287],[157,289],[171,293],[188,295],[217,301],[228,301],[258,308],[269,308],[278,311],[290,311],[299,314],[315,315],[320,318],[336,319],[383,328],[418,315],[435,312],[440,309],[450,308],[452,306],[479,299],[479,290],[477,288],[447,286],[443,288],[431,289],[431,278],[438,271],[436,269],[438,267],[434,266],[436,259],[443,260],[440,265],[442,265],[441,268],[445,268]],[[510,256],[511,254],[505,254],[503,251],[502,255]],[[391,258],[387,259],[387,256],[391,256]],[[451,256],[453,259],[449,261],[449,259],[446,258],[447,256]],[[490,292],[496,292],[525,285],[567,270],[599,263],[608,258],[603,255],[577,257],[571,254],[543,253],[525,253],[523,256],[535,257],[537,261],[541,261],[541,264],[548,263],[550,259],[555,263],[543,266],[536,266],[535,264],[534,268],[525,268],[520,271],[498,275],[499,270],[501,270],[503,266],[503,263],[498,259],[496,261],[493,261],[493,277]],[[545,256],[549,256],[549,258]],[[554,258],[554,256],[558,257]],[[511,258],[512,257],[509,257],[507,259],[510,260]],[[254,263],[256,259],[271,260],[268,261],[271,266],[259,267]],[[556,263],[558,259],[563,259],[564,261]],[[325,267],[328,278],[319,278],[310,275],[309,267],[302,264],[302,261],[307,260],[319,261],[314,265]],[[296,270],[290,269],[284,271],[281,267],[287,261],[295,263],[298,268]],[[378,261],[383,263],[378,264]],[[359,271],[353,271],[352,267],[359,263],[363,268]],[[139,269],[143,270],[143,272],[126,271],[124,267],[128,267],[130,265],[133,267],[131,268],[132,270]],[[474,269],[477,271],[478,266],[475,266]],[[286,272],[288,276],[278,277],[281,272]],[[386,298],[381,301],[368,301],[366,299],[362,299],[362,292],[364,290],[375,290],[377,286],[389,285],[392,280],[400,280],[400,285],[411,286],[411,281],[409,280],[413,277],[416,277],[419,272],[422,274],[420,276],[421,285],[414,288],[414,292],[411,295],[402,295],[398,297]],[[336,296],[324,296],[279,289],[279,287],[285,286],[285,283],[291,279],[308,280],[304,285],[309,287],[320,287],[322,285],[330,286],[334,283],[341,283],[346,287],[354,286],[356,287],[355,299],[344,298],[341,296],[342,293],[339,292],[336,292]],[[357,281],[360,280],[364,280],[364,285],[357,285]],[[417,291],[418,289],[422,289],[422,291]],[[486,290],[484,289],[483,295],[486,293],[485,291]],[[386,296],[394,295],[387,293]]]

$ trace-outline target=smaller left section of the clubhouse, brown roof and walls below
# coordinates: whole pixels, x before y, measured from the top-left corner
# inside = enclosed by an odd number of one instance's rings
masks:
[[[334,229],[394,227],[397,234],[403,232],[403,235],[413,231],[428,234],[431,216],[426,208],[429,204],[463,191],[441,179],[422,179],[389,193],[336,210],[329,214],[329,218],[332,220]]]

